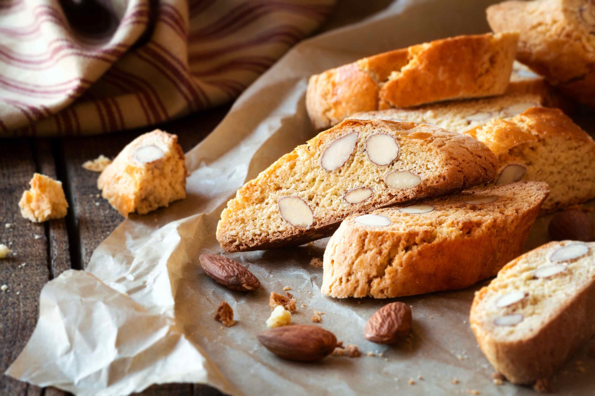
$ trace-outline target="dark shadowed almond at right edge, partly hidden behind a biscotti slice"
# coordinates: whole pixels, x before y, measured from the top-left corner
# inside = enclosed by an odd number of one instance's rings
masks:
[[[569,209],[556,214],[547,226],[550,240],[593,240],[593,221],[581,210]]]

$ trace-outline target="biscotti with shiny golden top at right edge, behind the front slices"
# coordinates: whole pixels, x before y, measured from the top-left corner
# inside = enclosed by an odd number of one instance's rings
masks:
[[[498,156],[496,184],[535,180],[550,186],[541,213],[595,198],[595,142],[561,110],[533,107],[467,132]]]

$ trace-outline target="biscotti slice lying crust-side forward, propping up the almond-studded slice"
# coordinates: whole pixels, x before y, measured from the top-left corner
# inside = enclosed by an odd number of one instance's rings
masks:
[[[324,251],[322,294],[411,296],[496,275],[521,254],[547,193],[518,182],[348,217]]]

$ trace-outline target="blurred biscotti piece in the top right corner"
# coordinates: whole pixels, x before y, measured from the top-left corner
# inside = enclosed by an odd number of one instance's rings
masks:
[[[487,8],[493,31],[520,32],[519,61],[595,106],[595,5],[588,0],[506,1]]]

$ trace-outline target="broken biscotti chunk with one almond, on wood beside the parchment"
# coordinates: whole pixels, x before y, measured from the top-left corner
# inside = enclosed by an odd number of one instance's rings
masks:
[[[140,135],[99,175],[97,186],[124,217],[186,198],[186,164],[178,137],[159,129]]]

